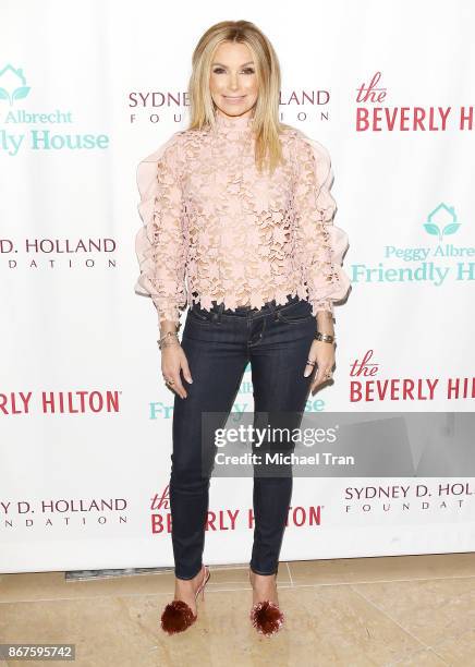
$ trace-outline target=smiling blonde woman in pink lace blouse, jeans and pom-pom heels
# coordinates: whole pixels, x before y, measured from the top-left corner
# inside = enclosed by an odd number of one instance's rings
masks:
[[[161,371],[175,392],[175,594],[161,616],[169,633],[196,620],[209,579],[202,414],[229,414],[251,362],[255,411],[301,415],[334,364],[333,301],[350,287],[341,268],[348,237],[332,225],[328,151],[279,122],[279,90],[278,59],[254,24],[211,26],[193,54],[188,129],[137,170],[144,225],[135,290],[157,308]],[[291,493],[291,474],[255,473],[251,620],[267,635],[283,621],[276,580]]]

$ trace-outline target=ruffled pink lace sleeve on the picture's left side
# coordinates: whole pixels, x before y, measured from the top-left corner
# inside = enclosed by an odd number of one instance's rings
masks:
[[[179,133],[141,160],[136,180],[143,225],[135,237],[139,265],[134,291],[150,296],[159,324],[180,322],[186,305],[184,206],[179,168]]]

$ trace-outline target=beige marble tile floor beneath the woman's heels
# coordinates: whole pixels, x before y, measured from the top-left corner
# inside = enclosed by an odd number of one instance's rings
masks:
[[[475,665],[474,553],[281,562],[278,585],[287,622],[264,638],[248,620],[247,565],[211,566],[198,620],[168,636],[172,570],[0,574],[0,643],[73,643],[75,667]]]

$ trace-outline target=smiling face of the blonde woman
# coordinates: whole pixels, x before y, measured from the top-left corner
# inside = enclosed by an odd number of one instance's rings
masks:
[[[256,68],[245,44],[223,41],[211,62],[209,89],[218,113],[253,116],[257,101]]]

